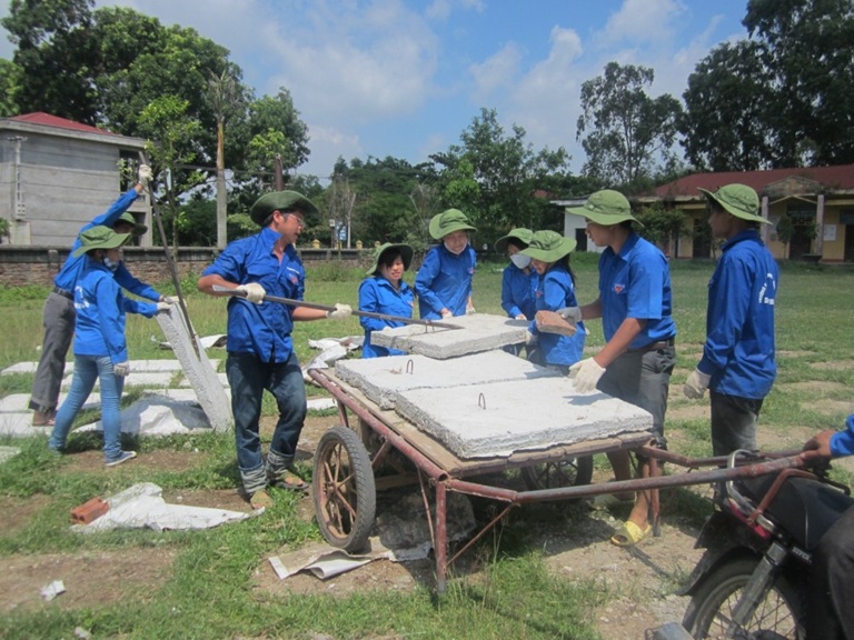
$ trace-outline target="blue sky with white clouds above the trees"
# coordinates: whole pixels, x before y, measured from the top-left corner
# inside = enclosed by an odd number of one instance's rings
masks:
[[[2,0],[0,0],[2,2]],[[679,98],[714,47],[746,38],[747,0],[97,0],[192,27],[230,50],[257,98],[290,91],[311,151],[415,164],[495,109],[535,150],[579,173],[580,88],[610,61],[651,67],[652,97]],[[0,17],[9,3],[0,6]],[[13,46],[0,28],[0,58]]]

